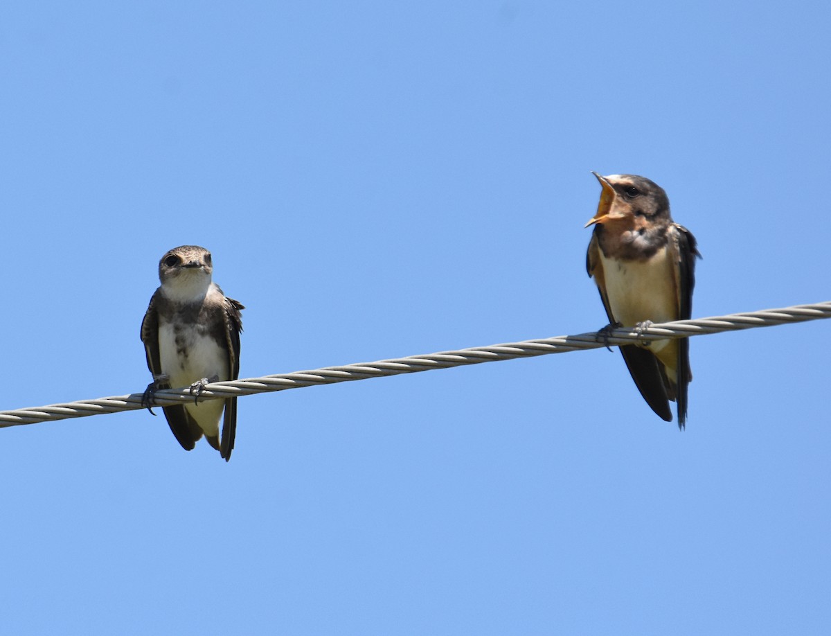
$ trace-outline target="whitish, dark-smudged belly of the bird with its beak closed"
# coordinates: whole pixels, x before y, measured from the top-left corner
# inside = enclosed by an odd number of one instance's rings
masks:
[[[179,353],[184,349],[184,354]],[[173,327],[159,325],[159,353],[161,370],[170,377],[170,387],[189,387],[204,377],[219,377],[219,381],[230,379],[228,353],[220,348],[209,336],[201,335],[196,330],[179,334],[176,341]],[[225,407],[224,400],[207,402],[187,402],[184,408],[194,418],[199,428],[210,436],[219,432],[219,417]]]

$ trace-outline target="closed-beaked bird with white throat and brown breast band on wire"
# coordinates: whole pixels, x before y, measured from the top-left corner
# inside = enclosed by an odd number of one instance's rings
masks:
[[[150,298],[141,323],[141,342],[153,374],[142,403],[153,407],[160,389],[190,387],[195,396],[192,404],[162,407],[170,430],[185,451],[193,450],[204,435],[229,461],[237,429],[237,398],[198,400],[208,382],[239,377],[240,310],[244,307],[211,282],[213,271],[210,252],[197,245],[182,245],[161,257],[161,286]]]

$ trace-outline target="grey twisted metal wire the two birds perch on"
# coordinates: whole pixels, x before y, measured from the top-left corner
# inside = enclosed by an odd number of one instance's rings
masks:
[[[218,399],[223,397],[253,395],[291,388],[314,387],[335,382],[366,380],[371,377],[416,373],[431,369],[461,367],[480,362],[513,360],[518,357],[542,356],[548,353],[568,353],[583,349],[596,349],[608,345],[664,338],[686,338],[710,333],[739,331],[756,327],[773,327],[787,323],[803,323],[819,318],[831,318],[831,301],[806,305],[794,305],[781,309],[765,309],[758,312],[731,313],[726,316],[678,320],[672,323],[656,323],[638,332],[632,328],[615,328],[607,337],[596,332],[579,333],[573,336],[524,340],[519,343],[494,344],[488,347],[473,347],[457,351],[428,353],[420,356],[397,357],[378,362],[359,362],[340,367],[323,367],[310,371],[277,373],[263,377],[249,377],[232,382],[211,382],[199,397]],[[125,396],[100,397],[94,400],[52,404],[46,407],[23,408],[16,411],[0,411],[0,428],[21,424],[34,424],[64,420],[73,417],[87,417],[103,413],[135,411],[143,408],[142,393]],[[155,394],[160,407],[171,406],[193,400],[189,388],[167,389]]]

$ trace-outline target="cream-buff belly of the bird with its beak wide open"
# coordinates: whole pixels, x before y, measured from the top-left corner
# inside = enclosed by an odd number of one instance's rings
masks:
[[[600,254],[606,293],[612,315],[624,327],[650,320],[668,323],[678,318],[675,265],[666,248],[646,263],[607,259]],[[649,348],[658,352],[669,340],[652,341]]]

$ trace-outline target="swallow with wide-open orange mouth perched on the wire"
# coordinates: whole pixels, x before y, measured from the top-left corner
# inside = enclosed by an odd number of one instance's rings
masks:
[[[691,318],[696,239],[673,222],[666,192],[642,176],[593,175],[602,187],[588,244],[586,269],[600,291],[610,327],[642,329]],[[686,425],[692,380],[687,338],[621,345],[629,373],[652,411]]]

